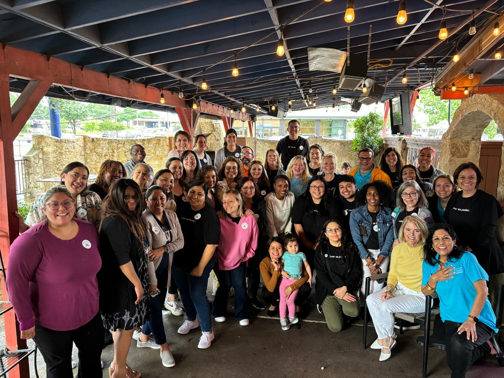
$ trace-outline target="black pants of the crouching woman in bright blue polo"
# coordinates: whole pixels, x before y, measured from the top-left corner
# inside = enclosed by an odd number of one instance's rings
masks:
[[[495,334],[483,323],[476,323],[477,338],[472,342],[467,340],[466,332],[458,334],[457,330],[461,324],[445,321],[444,327],[441,328],[446,340],[446,359],[452,370],[452,378],[464,377],[474,361],[490,351],[486,341]]]

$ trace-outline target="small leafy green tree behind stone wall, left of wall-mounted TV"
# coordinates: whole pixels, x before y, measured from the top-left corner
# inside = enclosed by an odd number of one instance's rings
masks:
[[[369,113],[352,122],[355,132],[352,150],[368,147],[377,155],[382,149],[383,118],[380,114]]]

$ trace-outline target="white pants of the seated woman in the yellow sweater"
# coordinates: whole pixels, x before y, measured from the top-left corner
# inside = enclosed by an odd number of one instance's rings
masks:
[[[397,283],[392,298],[382,300],[382,293],[387,288],[369,294],[366,298],[367,309],[371,314],[374,329],[379,339],[391,337],[394,334],[394,313],[395,312],[424,312],[425,295],[417,291],[408,289],[406,286]]]

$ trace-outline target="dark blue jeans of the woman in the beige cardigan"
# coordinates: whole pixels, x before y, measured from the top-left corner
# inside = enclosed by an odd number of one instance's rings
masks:
[[[168,283],[168,259],[169,255],[164,254],[161,258],[161,263],[156,269],[156,279],[158,281],[158,289],[160,293],[154,298],[149,295],[149,305],[151,307],[150,318],[142,327],[142,333],[144,335],[150,335],[154,337],[156,344],[162,345],[166,343],[166,334],[164,333],[163,325],[163,303],[166,297],[166,284]]]

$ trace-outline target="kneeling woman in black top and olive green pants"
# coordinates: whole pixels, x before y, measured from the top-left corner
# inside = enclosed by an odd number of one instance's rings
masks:
[[[332,332],[343,328],[343,314],[359,314],[357,290],[362,268],[352,238],[337,219],[328,220],[318,238],[315,251],[316,299],[322,307],[327,327]]]

